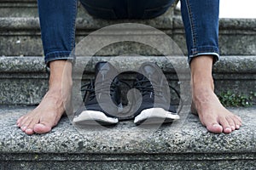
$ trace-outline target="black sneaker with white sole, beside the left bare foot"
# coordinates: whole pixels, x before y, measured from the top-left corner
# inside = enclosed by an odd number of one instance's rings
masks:
[[[84,105],[76,111],[73,122],[85,125],[113,125],[119,122],[120,102],[117,71],[108,62],[98,62],[95,80],[82,87]],[[99,100],[99,101],[98,101]]]

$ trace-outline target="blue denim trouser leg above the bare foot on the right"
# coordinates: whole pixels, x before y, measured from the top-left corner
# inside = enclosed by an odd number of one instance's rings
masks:
[[[181,0],[189,63],[193,57],[212,54],[219,59],[219,0]]]

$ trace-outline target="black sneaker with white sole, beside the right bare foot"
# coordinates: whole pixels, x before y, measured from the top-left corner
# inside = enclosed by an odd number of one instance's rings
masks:
[[[173,122],[179,119],[175,107],[170,104],[169,84],[158,65],[144,63],[133,88],[137,88],[142,94],[135,102],[137,105],[133,104],[137,108],[135,124]]]

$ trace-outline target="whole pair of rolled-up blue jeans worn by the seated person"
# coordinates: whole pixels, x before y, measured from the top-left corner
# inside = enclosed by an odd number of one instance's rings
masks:
[[[150,19],[164,14],[174,0],[80,0],[89,14],[98,18]],[[38,0],[38,12],[45,63],[70,59],[75,46],[75,20],[78,0]],[[218,52],[219,0],[181,0],[188,60]]]

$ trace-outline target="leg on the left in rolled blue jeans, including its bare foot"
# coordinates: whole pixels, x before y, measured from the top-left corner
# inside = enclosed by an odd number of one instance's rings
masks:
[[[45,62],[50,68],[49,90],[35,110],[17,121],[27,134],[48,133],[71,97],[73,58],[69,54],[74,46],[76,8],[76,0],[38,0]]]

